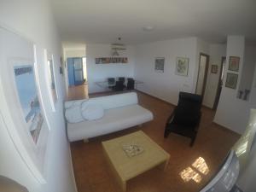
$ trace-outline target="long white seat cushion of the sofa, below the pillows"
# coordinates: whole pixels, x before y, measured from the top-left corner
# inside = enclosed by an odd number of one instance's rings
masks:
[[[139,105],[111,108],[104,111],[102,119],[83,121],[77,124],[67,123],[67,136],[70,142],[84,138],[97,137],[114,131],[143,124],[153,119],[148,109]]]

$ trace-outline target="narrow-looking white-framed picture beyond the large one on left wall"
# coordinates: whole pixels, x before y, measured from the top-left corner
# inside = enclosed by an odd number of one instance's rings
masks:
[[[55,102],[57,102],[58,94],[55,85],[55,63],[54,56],[44,49],[44,62],[46,66],[46,83],[48,84],[50,104],[52,111],[55,111]]]

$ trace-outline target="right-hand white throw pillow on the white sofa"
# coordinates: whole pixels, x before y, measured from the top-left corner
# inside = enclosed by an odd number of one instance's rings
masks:
[[[92,104],[83,102],[81,106],[81,113],[86,120],[101,119],[104,115],[104,109],[100,104]]]

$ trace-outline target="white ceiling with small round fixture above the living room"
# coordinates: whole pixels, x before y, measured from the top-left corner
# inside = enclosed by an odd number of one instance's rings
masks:
[[[139,44],[196,36],[223,43],[227,35],[256,41],[256,0],[51,0],[61,39]],[[154,26],[144,32],[143,26]]]

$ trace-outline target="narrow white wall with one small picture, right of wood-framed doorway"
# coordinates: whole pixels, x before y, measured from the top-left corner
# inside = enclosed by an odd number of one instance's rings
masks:
[[[218,89],[218,79],[221,70],[221,59],[222,56],[226,55],[226,45],[210,44],[209,55],[210,62],[208,68],[207,86],[203,100],[203,105],[207,106],[208,108],[213,108],[213,104],[215,102],[215,97]],[[218,73],[211,73],[212,65],[218,66]]]

